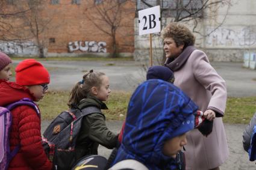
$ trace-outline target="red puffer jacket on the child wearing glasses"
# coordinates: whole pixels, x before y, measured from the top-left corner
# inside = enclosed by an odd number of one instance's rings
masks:
[[[0,80],[0,96],[0,106],[6,106],[25,97],[33,99],[33,95],[27,88],[2,80]],[[23,105],[14,108],[11,115],[13,121],[10,148],[13,150],[20,144],[20,150],[11,160],[8,169],[51,169],[52,163],[49,162],[42,147],[40,118],[36,111],[30,106]]]

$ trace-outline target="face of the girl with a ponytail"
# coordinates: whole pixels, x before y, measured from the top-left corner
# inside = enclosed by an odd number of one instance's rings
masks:
[[[99,88],[95,88],[95,90],[92,90],[92,93],[97,99],[107,101],[108,96],[111,93],[109,79],[107,76],[101,76],[101,80],[101,86]]]

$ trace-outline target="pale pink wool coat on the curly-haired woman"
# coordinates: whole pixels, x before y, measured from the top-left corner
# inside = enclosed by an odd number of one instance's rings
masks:
[[[222,116],[226,107],[226,83],[209,64],[201,50],[194,50],[186,64],[174,72],[174,84],[180,87],[199,106],[199,110],[217,111],[213,132],[207,137],[198,129],[187,134],[185,146],[186,169],[212,169],[228,158],[228,144]]]

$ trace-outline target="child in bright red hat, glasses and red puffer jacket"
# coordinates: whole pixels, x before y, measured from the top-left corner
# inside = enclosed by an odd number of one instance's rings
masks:
[[[27,98],[38,102],[47,93],[48,71],[35,59],[21,61],[16,69],[16,82],[0,80],[0,106]],[[8,169],[52,169],[42,147],[40,112],[28,105],[11,110],[10,150],[19,146]]]

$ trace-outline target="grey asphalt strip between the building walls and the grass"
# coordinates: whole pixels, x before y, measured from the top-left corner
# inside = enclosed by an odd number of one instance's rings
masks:
[[[14,61],[17,64],[19,61]],[[134,61],[43,61],[51,73],[49,90],[71,90],[86,70],[102,71],[110,77],[111,90],[133,91],[146,79],[146,72]],[[242,67],[242,62],[212,62],[226,80],[228,96],[256,96],[256,70]]]

